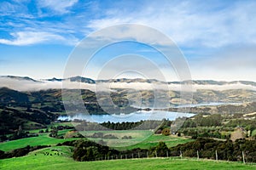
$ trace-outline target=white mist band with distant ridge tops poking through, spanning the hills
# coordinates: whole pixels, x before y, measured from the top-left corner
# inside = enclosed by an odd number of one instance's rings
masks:
[[[209,89],[215,91],[231,90],[231,89],[246,89],[256,91],[256,82],[249,81],[212,81],[212,80],[193,80],[183,82],[162,82],[155,79],[109,79],[109,80],[92,80],[86,77],[69,77],[66,79],[51,78],[34,80],[30,77],[14,77],[1,76],[0,88],[11,88],[18,91],[38,91],[50,88],[60,89],[63,82],[65,88],[68,89],[89,89],[95,91],[100,88],[101,91],[109,90],[111,88],[131,88],[136,90],[154,90],[154,89],[169,89],[172,91],[180,91],[182,85],[191,85],[192,91],[200,89]],[[184,89],[183,89],[184,90]],[[190,89],[189,89],[190,90]]]

